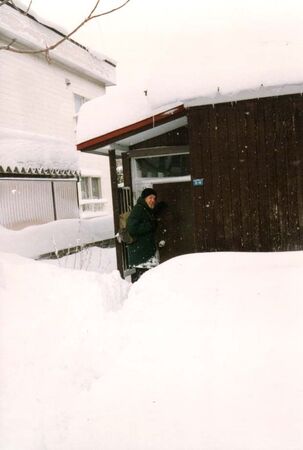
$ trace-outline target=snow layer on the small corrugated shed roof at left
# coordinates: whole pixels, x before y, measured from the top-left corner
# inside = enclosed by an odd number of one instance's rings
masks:
[[[75,146],[51,136],[0,128],[0,166],[21,169],[78,171]]]

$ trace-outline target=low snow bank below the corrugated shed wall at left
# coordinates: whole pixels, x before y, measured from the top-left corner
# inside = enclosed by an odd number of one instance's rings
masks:
[[[8,230],[0,225],[0,251],[37,258],[59,250],[114,238],[111,215],[91,219],[65,219]]]

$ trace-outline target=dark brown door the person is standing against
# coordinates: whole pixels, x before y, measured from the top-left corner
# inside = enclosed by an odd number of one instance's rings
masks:
[[[158,201],[168,207],[160,214],[157,240],[165,241],[160,248],[160,261],[194,252],[194,220],[190,182],[154,184]]]

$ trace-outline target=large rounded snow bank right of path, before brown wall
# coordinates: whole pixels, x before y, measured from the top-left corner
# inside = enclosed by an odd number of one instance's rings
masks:
[[[95,386],[119,424],[107,448],[302,448],[302,275],[301,252],[188,255],[142,277]]]

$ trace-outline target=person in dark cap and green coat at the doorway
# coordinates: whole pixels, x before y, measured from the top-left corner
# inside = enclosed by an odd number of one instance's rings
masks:
[[[156,203],[156,191],[145,188],[127,220],[127,231],[134,239],[134,242],[128,245],[128,262],[131,267],[143,269],[137,272],[143,272],[157,265],[155,257],[157,219],[154,214]]]

